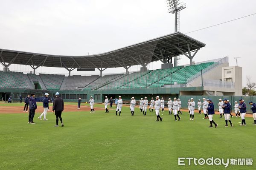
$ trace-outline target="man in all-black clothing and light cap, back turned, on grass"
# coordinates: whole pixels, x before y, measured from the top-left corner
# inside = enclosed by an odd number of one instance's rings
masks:
[[[61,113],[64,111],[64,102],[63,99],[61,99],[59,96],[60,94],[57,92],[56,94],[56,99],[53,102],[52,106],[52,113],[55,111],[55,116],[56,116],[56,125],[54,127],[58,127],[58,119],[61,121],[61,127],[64,126],[61,118]]]

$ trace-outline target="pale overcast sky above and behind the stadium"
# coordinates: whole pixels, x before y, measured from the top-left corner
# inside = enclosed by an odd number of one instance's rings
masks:
[[[255,0],[181,0],[180,32],[186,33],[256,12]],[[97,54],[174,32],[174,14],[166,0],[0,0],[0,48],[57,55]],[[195,62],[229,56],[256,81],[256,15],[189,35],[206,44]],[[180,65],[188,64],[182,57]],[[2,66],[2,65],[1,65]],[[161,67],[154,62],[149,69]],[[0,67],[2,70],[3,67]],[[12,65],[11,70],[30,71]],[[140,66],[131,67],[137,71]],[[124,72],[109,68],[105,74]],[[40,67],[37,72],[67,74],[64,68]],[[73,71],[73,74],[85,72]],[[99,71],[86,72],[99,74]],[[218,73],[217,73],[218,74]],[[221,74],[221,73],[219,73]]]

